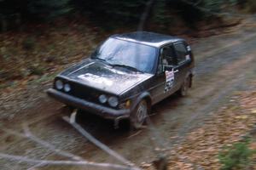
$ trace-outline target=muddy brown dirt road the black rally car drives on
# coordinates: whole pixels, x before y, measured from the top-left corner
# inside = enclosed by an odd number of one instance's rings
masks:
[[[210,119],[230,95],[237,90],[246,90],[247,82],[256,78],[256,30],[237,30],[218,37],[198,40],[192,48],[195,53],[195,81],[186,98],[177,95],[165,99],[153,108],[151,123],[138,132],[131,132],[125,126],[113,129],[113,122],[96,116],[79,116],[79,124],[102,143],[116,150],[138,165],[153,161],[160,153],[168,153],[172,146],[179,144],[186,133],[200,127]],[[46,97],[45,97],[46,98]],[[20,129],[26,122],[32,133],[55,144],[61,150],[69,150],[90,161],[118,163],[90,144],[67,122],[61,120],[61,104],[45,99],[40,105],[26,111],[26,116],[16,116],[3,122],[6,127]],[[26,139],[0,131],[0,150],[5,153],[26,155],[33,158],[58,158],[42,146]],[[164,151],[162,151],[164,150]],[[0,160],[1,169],[26,169],[27,164]],[[50,167],[49,167],[50,168]],[[54,167],[55,169],[57,167]],[[71,167],[60,167],[70,169]],[[85,168],[87,169],[87,168]]]

